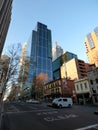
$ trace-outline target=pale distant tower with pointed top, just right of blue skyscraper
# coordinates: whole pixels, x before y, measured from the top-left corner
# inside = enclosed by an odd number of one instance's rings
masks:
[[[56,60],[62,54],[63,54],[63,49],[56,42],[55,46],[52,48],[52,61]]]

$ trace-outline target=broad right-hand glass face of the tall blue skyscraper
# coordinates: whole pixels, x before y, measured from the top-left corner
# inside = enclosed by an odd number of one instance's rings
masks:
[[[52,42],[51,31],[46,25],[37,24],[37,67],[36,76],[40,73],[48,75],[48,79],[52,80]]]

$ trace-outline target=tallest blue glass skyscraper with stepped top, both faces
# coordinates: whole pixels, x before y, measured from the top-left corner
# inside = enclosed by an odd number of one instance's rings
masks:
[[[25,62],[29,63],[26,87],[32,86],[33,78],[39,74],[46,74],[48,81],[52,80],[51,30],[40,22],[27,42]]]

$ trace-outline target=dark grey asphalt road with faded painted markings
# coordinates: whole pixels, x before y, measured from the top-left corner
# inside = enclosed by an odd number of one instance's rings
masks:
[[[98,107],[52,108],[46,103],[6,103],[1,130],[96,130]]]

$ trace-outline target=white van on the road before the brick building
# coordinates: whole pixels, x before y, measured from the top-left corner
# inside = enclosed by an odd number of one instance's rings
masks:
[[[73,102],[72,102],[72,98],[60,97],[60,98],[55,98],[52,101],[52,105],[54,107],[59,107],[59,108],[62,108],[62,107],[72,107]]]

